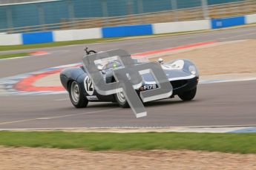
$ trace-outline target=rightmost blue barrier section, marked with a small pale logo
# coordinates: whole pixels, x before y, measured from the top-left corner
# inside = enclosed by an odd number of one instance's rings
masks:
[[[232,27],[232,26],[243,25],[243,24],[245,24],[245,16],[211,19],[212,29]]]

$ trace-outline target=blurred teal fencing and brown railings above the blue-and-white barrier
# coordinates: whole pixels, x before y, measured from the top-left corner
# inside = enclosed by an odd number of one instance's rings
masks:
[[[255,0],[1,0],[0,33],[192,21],[256,13]]]

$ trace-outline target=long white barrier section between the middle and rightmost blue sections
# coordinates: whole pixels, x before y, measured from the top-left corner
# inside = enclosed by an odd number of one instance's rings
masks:
[[[211,21],[210,20],[200,20],[200,21],[179,21],[179,22],[167,22],[167,23],[157,23],[152,24],[153,33],[177,33],[185,31],[194,30],[210,30]]]

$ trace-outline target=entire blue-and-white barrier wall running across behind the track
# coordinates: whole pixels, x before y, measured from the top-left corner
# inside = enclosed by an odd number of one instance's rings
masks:
[[[0,45],[36,44],[53,41],[74,41],[93,38],[177,33],[194,30],[210,30],[252,23],[256,23],[256,14],[200,21],[180,21],[80,30],[58,30],[41,33],[1,34]]]

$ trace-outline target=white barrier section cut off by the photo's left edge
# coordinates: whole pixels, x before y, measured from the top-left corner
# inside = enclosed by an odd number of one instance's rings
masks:
[[[0,45],[20,45],[22,34],[0,34]]]

